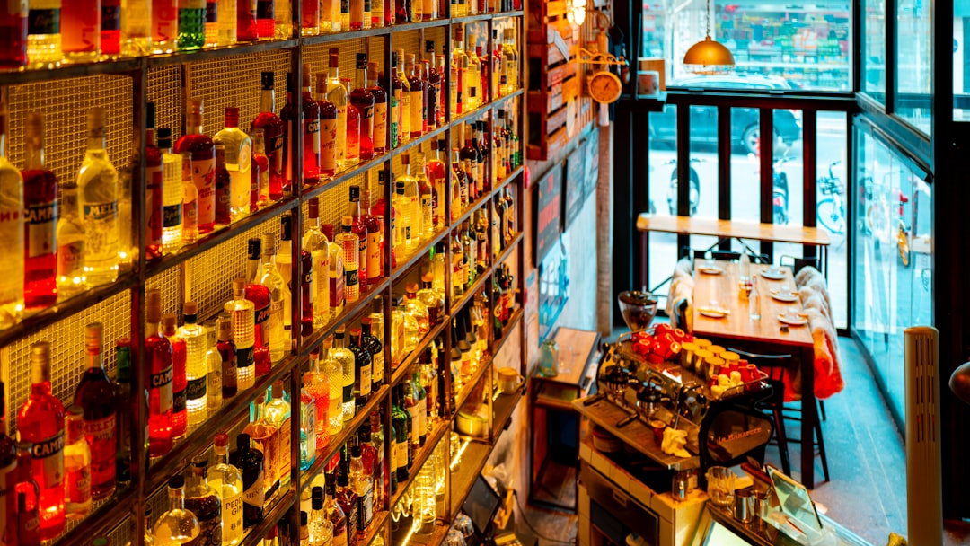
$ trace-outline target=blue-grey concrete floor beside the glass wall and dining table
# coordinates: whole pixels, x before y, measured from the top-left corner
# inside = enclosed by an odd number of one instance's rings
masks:
[[[906,534],[905,451],[903,437],[859,350],[853,340],[839,339],[846,388],[825,401],[827,419],[823,423],[831,481],[817,484],[812,494],[830,518],[873,545],[882,546],[888,542],[890,531]],[[789,449],[792,473],[797,479],[799,447],[792,445]],[[768,447],[766,459],[781,466],[774,446]],[[818,457],[815,467],[816,479],[823,479]],[[533,533],[540,535],[539,546],[575,541],[575,515],[524,508],[516,511],[517,522],[522,525],[525,516]],[[970,544],[970,526],[947,522],[944,527],[946,544]]]

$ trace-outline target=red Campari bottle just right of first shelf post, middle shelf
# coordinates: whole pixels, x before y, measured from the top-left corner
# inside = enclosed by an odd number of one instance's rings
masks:
[[[172,451],[172,343],[161,332],[162,293],[148,289],[145,298],[148,455],[154,458]]]

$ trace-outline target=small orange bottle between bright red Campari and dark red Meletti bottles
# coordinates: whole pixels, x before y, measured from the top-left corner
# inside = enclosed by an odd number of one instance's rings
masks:
[[[69,406],[64,421],[64,513],[69,520],[82,520],[91,513],[91,448],[84,439],[84,410]]]

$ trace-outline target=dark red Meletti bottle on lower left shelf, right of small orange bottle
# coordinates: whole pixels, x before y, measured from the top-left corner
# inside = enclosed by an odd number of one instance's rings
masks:
[[[91,498],[95,500],[114,493],[117,449],[114,386],[105,373],[101,356],[103,342],[102,324],[88,324],[84,329],[87,369],[74,394],[74,403],[84,410],[84,437],[91,449]]]

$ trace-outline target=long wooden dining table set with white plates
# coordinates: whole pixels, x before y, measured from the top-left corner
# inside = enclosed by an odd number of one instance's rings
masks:
[[[781,268],[784,280],[765,278],[760,272],[767,266],[752,264],[752,281],[761,298],[761,318],[754,320],[749,312],[749,301],[741,297],[738,264],[713,262],[724,270],[720,274],[695,271],[694,278],[694,335],[717,340],[719,343],[762,354],[791,354],[801,369],[801,437],[815,437],[815,342],[809,325],[790,326],[782,332],[778,315],[784,312],[801,312],[801,302],[779,302],[771,297],[771,291],[794,290],[792,270]],[[698,262],[698,268],[700,263]],[[699,309],[718,306],[729,312],[725,318],[709,318]],[[815,487],[815,449],[812,442],[801,444],[801,478],[805,487]]]

